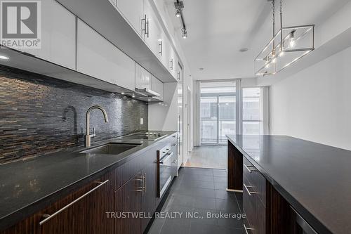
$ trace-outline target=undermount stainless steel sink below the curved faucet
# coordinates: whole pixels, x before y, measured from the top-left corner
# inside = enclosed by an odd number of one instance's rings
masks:
[[[100,155],[119,155],[122,152],[135,148],[141,144],[125,144],[125,143],[107,143],[95,148],[83,150],[85,154],[100,154]]]

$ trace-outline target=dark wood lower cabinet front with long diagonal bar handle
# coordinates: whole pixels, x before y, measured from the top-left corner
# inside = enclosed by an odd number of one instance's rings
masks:
[[[105,225],[105,210],[111,205],[107,180],[104,176],[89,183],[2,233],[113,233],[112,226]]]

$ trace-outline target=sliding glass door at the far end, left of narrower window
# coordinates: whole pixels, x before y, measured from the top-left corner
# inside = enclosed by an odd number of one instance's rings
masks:
[[[201,82],[201,145],[226,144],[236,134],[236,82]]]

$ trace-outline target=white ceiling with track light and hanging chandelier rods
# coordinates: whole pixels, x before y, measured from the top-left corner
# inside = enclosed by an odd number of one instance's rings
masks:
[[[182,39],[180,20],[175,16],[175,0],[165,1],[193,79],[254,77],[253,59],[272,37],[271,2],[183,0],[188,37]],[[278,13],[279,0],[276,1]],[[349,1],[284,0],[284,26],[318,26]],[[249,48],[249,51],[241,53],[240,48]],[[199,70],[200,67],[204,70]]]

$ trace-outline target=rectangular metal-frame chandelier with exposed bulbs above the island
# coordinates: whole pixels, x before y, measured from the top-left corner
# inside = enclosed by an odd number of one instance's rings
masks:
[[[275,32],[275,0],[273,37],[255,58],[255,74],[277,74],[314,50],[314,25],[283,27],[283,3],[280,0],[280,30]]]

